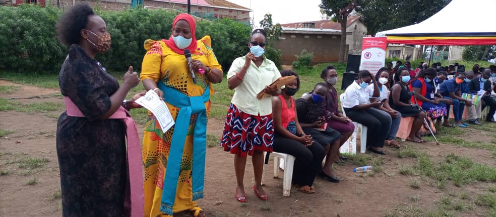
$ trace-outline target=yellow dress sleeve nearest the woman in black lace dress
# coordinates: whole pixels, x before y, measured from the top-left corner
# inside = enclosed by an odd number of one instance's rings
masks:
[[[147,51],[143,57],[141,64],[140,79],[152,79],[155,82],[162,77],[160,67],[162,63],[162,46],[161,41],[153,41],[147,39],[145,41],[145,50]]]

